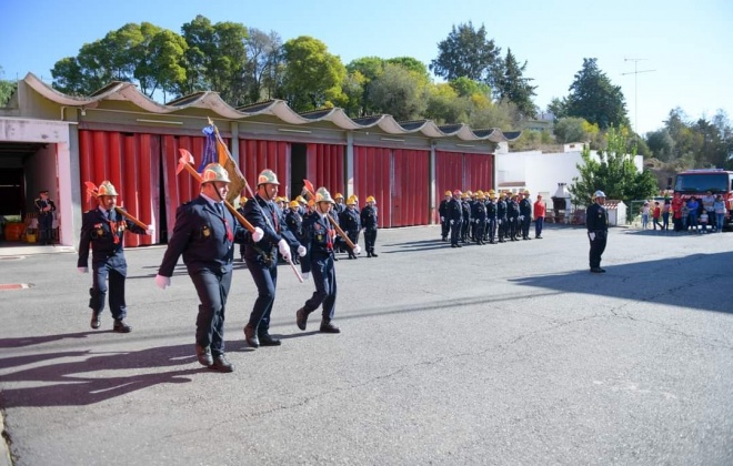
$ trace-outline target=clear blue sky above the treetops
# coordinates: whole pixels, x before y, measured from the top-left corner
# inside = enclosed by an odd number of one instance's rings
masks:
[[[723,109],[733,120],[733,2],[730,0],[0,0],[3,79],[27,72],[51,81],[51,68],[128,22],[181,32],[197,14],[234,21],[284,40],[311,36],[343,63],[375,55],[413,57],[429,64],[453,26],[484,24],[488,37],[528,62],[545,109],[565,97],[583,58],[596,58],[622,87],[641,133],[663,125],[680,107],[690,119]],[[630,59],[642,59],[634,62]],[[636,67],[636,68],[634,68]],[[633,74],[636,71],[646,71]],[[625,74],[624,73],[632,73]]]

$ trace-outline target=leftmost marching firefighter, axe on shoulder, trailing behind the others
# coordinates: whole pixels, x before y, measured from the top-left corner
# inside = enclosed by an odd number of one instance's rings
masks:
[[[124,303],[124,281],[128,274],[128,262],[124,259],[124,232],[152,235],[153,229],[148,225],[141,229],[116,211],[117,190],[109,181],[102,181],[97,191],[98,209],[84,212],[81,219],[81,240],[79,242],[79,260],[77,269],[89,273],[89,249],[92,251],[92,287],[89,288],[89,307],[92,310],[91,327],[99,328],[100,314],[104,310],[108,292],[109,303],[114,325],[112,330],[119,333],[132,331],[124,318],[128,315]]]

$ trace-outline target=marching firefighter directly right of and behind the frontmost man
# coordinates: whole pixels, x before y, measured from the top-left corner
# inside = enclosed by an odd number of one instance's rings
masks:
[[[290,249],[294,247],[299,256],[305,255],[303,247],[288,225],[280,222],[279,210],[274,202],[280,182],[272,170],[263,170],[258,176],[257,193],[244,204],[244,217],[264,232],[262,241],[250,240],[244,249],[244,262],[254,280],[258,297],[244,327],[247,344],[259,346],[279,346],[280,340],[270,335],[270,314],[278,286],[278,253],[290,262]]]

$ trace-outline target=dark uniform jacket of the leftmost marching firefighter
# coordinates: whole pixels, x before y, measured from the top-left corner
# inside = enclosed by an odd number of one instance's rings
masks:
[[[81,219],[77,266],[88,266],[89,249],[91,247],[92,267],[107,264],[124,275],[128,269],[122,246],[125,230],[138,234],[145,233],[143,229],[127,220],[114,209],[110,212],[109,220],[100,209],[84,212]]]

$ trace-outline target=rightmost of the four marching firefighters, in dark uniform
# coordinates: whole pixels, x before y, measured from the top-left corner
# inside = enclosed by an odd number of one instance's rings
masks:
[[[331,194],[325,188],[319,188],[315,191],[314,213],[303,220],[303,244],[308,249],[308,254],[303,257],[301,270],[303,280],[308,280],[313,274],[315,292],[305,301],[303,307],[295,312],[295,324],[298,328],[304,331],[308,324],[308,315],[319,306],[323,306],[320,331],[323,333],[340,333],[338,326],[333,324],[335,314],[337,298],[337,278],[335,267],[333,265],[333,240],[335,230],[327,219],[332,205],[335,204]],[[354,247],[354,253],[359,254],[359,245]]]

